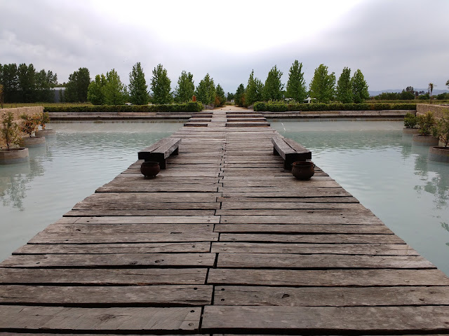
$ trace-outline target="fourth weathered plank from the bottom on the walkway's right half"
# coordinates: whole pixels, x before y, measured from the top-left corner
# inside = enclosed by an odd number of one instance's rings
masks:
[[[420,255],[301,255],[288,253],[219,253],[217,267],[278,269],[435,268],[429,260],[422,258]]]

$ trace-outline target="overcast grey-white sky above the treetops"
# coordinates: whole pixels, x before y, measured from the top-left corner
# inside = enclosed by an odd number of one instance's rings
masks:
[[[136,62],[149,83],[161,63],[172,89],[186,70],[235,92],[275,64],[286,83],[295,59],[307,85],[320,64],[337,79],[361,69],[370,90],[449,79],[448,0],[0,0],[0,15],[0,64],[32,63],[60,83],[87,67],[128,84]]]

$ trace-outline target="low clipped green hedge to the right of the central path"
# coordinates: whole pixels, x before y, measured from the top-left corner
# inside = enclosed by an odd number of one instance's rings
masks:
[[[416,110],[415,103],[363,103],[363,104],[286,104],[281,102],[255,102],[254,111],[382,111]]]

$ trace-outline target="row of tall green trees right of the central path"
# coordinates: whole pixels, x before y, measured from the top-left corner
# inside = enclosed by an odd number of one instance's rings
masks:
[[[237,105],[250,106],[258,101],[292,99],[295,102],[304,102],[307,96],[316,99],[316,102],[328,103],[338,100],[342,103],[361,103],[369,98],[368,85],[363,73],[357,69],[351,77],[351,69],[345,67],[335,85],[335,74],[329,73],[328,67],[321,64],[315,69],[314,77],[307,90],[302,71],[302,63],[295,60],[288,73],[286,90],[281,83],[283,73],[275,65],[268,73],[265,83],[255,78],[251,71],[246,87],[239,85],[233,95]],[[228,94],[229,100],[229,94]]]

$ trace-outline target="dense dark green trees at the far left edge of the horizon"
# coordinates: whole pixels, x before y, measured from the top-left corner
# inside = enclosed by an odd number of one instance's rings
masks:
[[[37,71],[33,64],[0,64],[0,85],[5,103],[53,102],[53,87],[58,76],[44,69]]]

